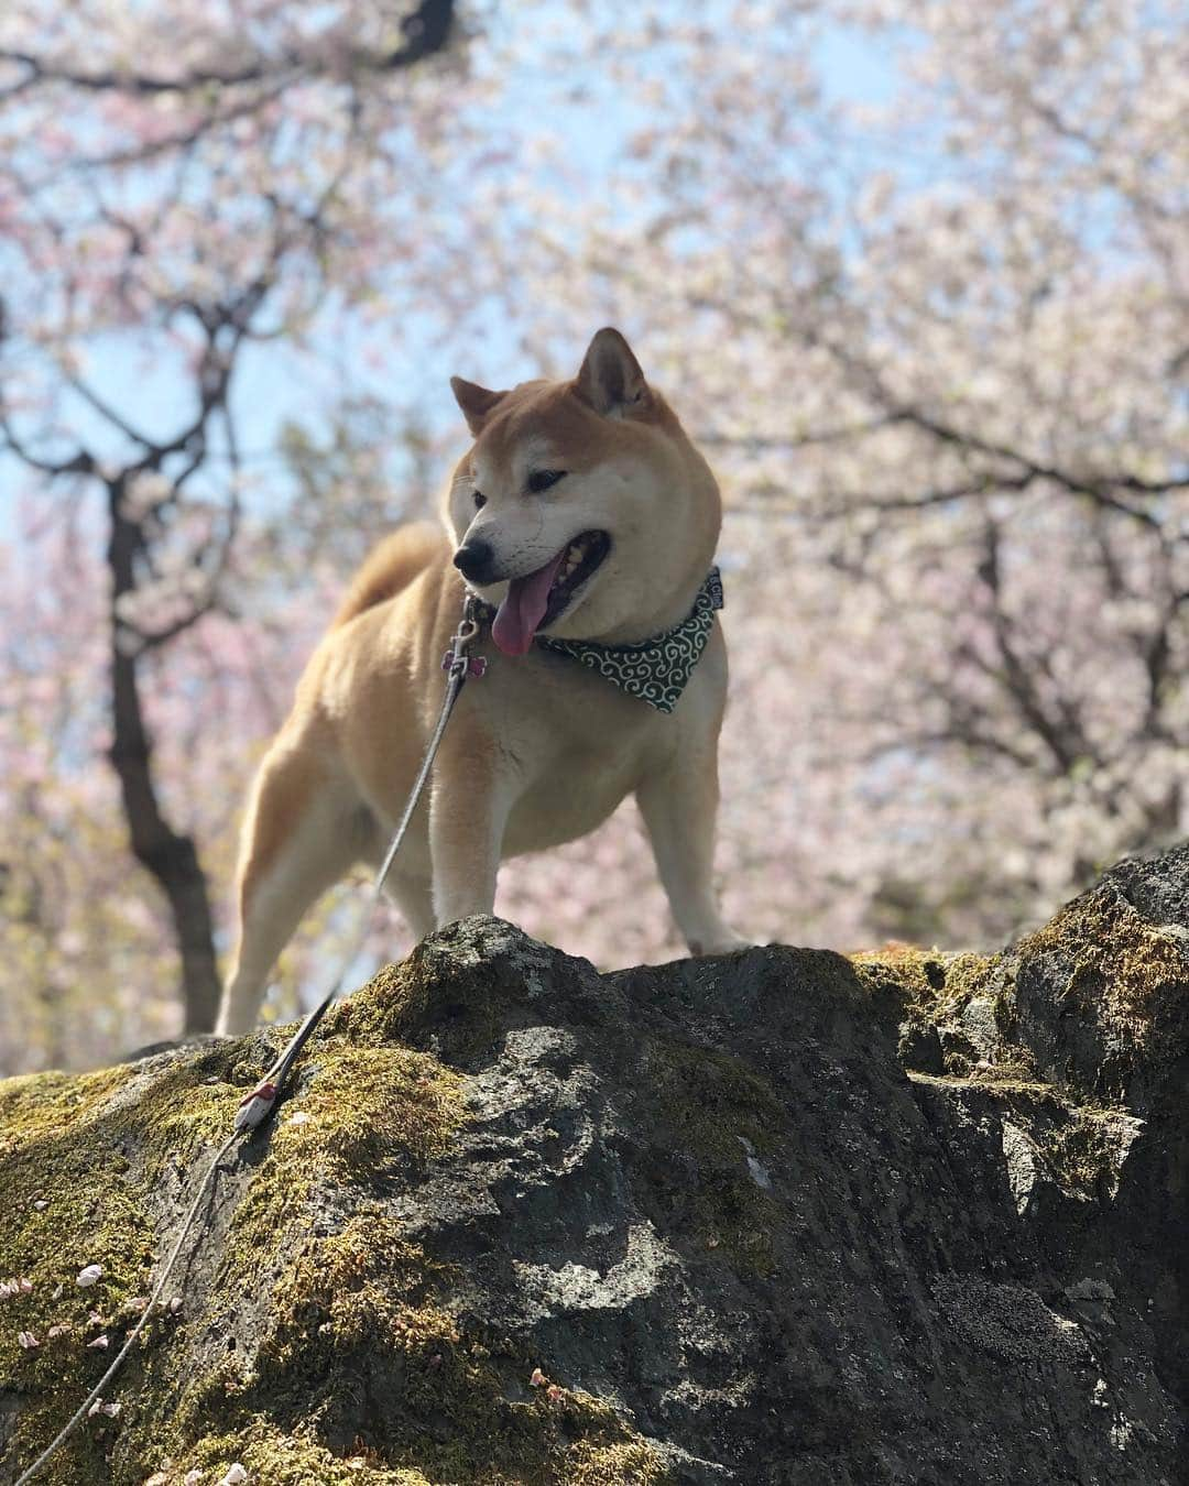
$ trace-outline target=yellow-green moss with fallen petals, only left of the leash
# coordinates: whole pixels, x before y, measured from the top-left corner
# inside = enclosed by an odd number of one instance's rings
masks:
[[[137,1297],[159,1257],[150,1193],[166,1164],[199,1159],[213,1138],[218,1095],[202,1082],[210,1067],[202,1057],[155,1077],[119,1067],[0,1083],[0,1275],[33,1284],[0,1309],[0,1380],[27,1400],[16,1433],[25,1458],[82,1401],[140,1315]],[[224,1129],[236,1097],[223,1091]],[[101,1265],[103,1275],[80,1288],[86,1265]],[[171,1328],[171,1320],[155,1318],[146,1339]],[[40,1345],[22,1348],[21,1331]],[[88,1345],[104,1334],[106,1348]],[[114,1430],[104,1418],[88,1421],[54,1479],[107,1480]]]

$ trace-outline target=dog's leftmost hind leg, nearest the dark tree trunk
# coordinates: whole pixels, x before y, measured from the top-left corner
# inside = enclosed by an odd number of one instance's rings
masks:
[[[305,911],[360,857],[370,820],[300,744],[273,746],[256,777],[239,859],[239,939],[218,1033],[251,1031],[276,955]]]

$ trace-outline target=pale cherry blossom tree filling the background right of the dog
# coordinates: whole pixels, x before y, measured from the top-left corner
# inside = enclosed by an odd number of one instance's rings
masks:
[[[816,7],[606,39],[633,169],[493,288],[642,327],[716,456],[739,923],[997,938],[1185,829],[1186,36],[828,9],[884,104],[823,94]]]

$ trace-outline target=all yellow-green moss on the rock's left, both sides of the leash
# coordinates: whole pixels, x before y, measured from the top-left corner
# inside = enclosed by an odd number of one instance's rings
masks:
[[[398,1181],[440,1156],[465,1117],[459,1074],[386,1040],[424,994],[416,978],[373,982],[315,1039],[275,1120],[220,1178],[211,1227],[175,1281],[181,1315],[153,1318],[113,1385],[120,1416],[85,1422],[55,1459],[55,1483],[131,1486],[158,1471],[180,1483],[195,1467],[217,1480],[236,1459],[260,1486],[664,1479],[657,1452],[606,1404],[528,1388],[548,1360],[464,1326],[461,1278],[363,1192],[351,1198],[364,1178]],[[0,1230],[0,1276],[34,1282],[0,1309],[3,1382],[24,1395],[19,1464],[126,1336],[132,1299],[268,1057],[256,1039],[149,1070],[0,1083],[0,1187],[18,1217]],[[340,1193],[342,1216],[315,1213],[327,1193]],[[79,1290],[86,1263],[104,1275]],[[70,1330],[51,1342],[49,1324]],[[250,1367],[226,1349],[245,1324]],[[43,1345],[22,1349],[19,1330]],[[110,1349],[89,1349],[101,1330]],[[361,1397],[373,1401],[352,1416]]]

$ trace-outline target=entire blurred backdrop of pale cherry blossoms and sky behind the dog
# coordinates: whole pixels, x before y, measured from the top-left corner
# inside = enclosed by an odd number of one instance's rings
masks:
[[[713,459],[740,930],[993,942],[1185,831],[1176,7],[39,9],[0,18],[0,437],[31,473],[0,594],[0,1036],[33,1061],[91,1051],[61,1031],[85,978],[107,1045],[171,1030],[169,898],[120,847],[137,770],[190,843],[210,1005],[256,752],[351,565],[430,507],[462,432],[444,376],[424,424],[385,380],[412,306],[443,370],[495,385],[571,374],[618,322]],[[864,97],[840,37],[895,58]],[[375,374],[269,435],[262,476],[253,358],[367,370],[358,327],[389,334]],[[95,380],[113,346],[131,398]],[[603,964],[679,953],[630,807],[511,863],[498,906]],[[404,944],[389,920],[372,948]]]

